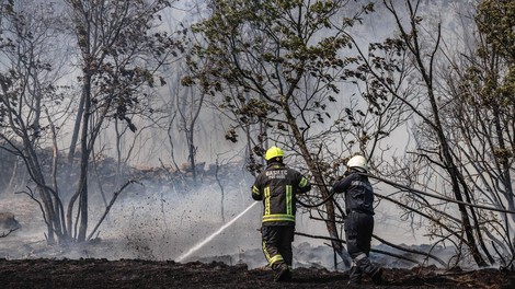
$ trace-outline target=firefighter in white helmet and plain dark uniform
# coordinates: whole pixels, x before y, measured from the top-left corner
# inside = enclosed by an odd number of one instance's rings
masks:
[[[368,182],[367,161],[362,155],[355,155],[347,162],[345,177],[333,184],[333,192],[345,194],[345,240],[347,252],[353,259],[350,285],[358,285],[365,273],[374,284],[382,282],[382,268],[373,265],[368,258],[371,234],[374,231],[374,189]]]

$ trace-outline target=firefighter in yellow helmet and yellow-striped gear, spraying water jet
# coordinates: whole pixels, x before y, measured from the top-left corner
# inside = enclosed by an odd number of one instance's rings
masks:
[[[266,169],[258,175],[252,186],[252,198],[263,201],[263,253],[275,273],[275,281],[291,279],[296,196],[311,189],[308,180],[287,167],[283,158],[282,149],[270,148],[265,154]]]

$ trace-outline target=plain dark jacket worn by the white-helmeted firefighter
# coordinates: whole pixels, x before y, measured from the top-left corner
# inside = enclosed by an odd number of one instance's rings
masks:
[[[345,193],[345,209],[374,215],[374,189],[366,175],[352,171],[333,184],[333,192]]]

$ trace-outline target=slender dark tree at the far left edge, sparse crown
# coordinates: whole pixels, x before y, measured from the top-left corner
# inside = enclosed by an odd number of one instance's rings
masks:
[[[59,62],[49,61],[61,51],[61,30],[66,27],[57,11],[47,14],[53,5],[19,1],[15,5],[2,5],[2,58],[5,60],[0,76],[2,112],[2,149],[20,157],[36,184],[41,207],[48,228],[48,242],[62,238],[66,228],[62,203],[58,198],[55,182],[55,162],[43,157],[43,147],[54,144],[56,124],[64,122],[72,100],[65,100],[56,84],[61,74]],[[42,153],[43,152],[43,153]],[[52,154],[49,154],[52,155]],[[49,170],[47,167],[50,167]],[[50,178],[47,176],[50,175]],[[28,193],[35,197],[30,189]]]

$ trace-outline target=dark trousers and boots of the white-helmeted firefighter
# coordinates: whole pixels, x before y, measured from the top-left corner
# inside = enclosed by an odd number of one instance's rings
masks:
[[[374,277],[378,271],[378,268],[375,267],[368,258],[374,231],[374,216],[352,211],[345,220],[344,229],[347,251],[354,262],[351,268],[350,282],[359,284],[363,273]]]

